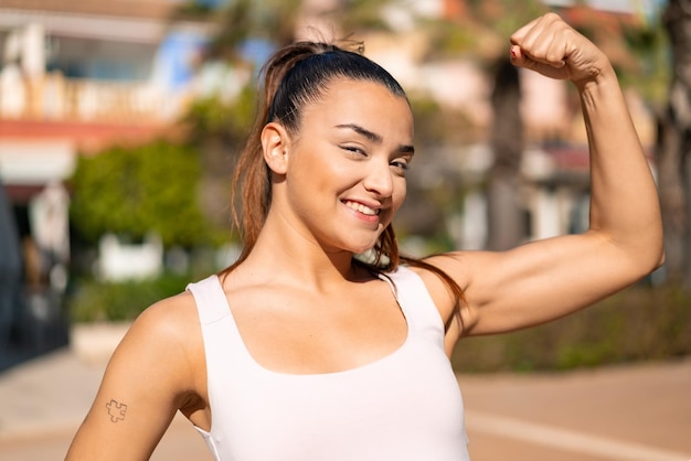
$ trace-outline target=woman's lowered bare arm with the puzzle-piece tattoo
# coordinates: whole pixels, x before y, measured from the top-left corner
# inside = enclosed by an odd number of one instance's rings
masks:
[[[148,460],[194,396],[190,340],[200,334],[189,293],[139,315],[113,354],[66,461]]]

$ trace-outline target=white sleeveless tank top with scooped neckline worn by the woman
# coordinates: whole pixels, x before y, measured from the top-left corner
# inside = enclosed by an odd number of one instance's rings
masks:
[[[338,373],[268,371],[245,347],[216,276],[188,286],[206,355],[217,461],[467,461],[464,407],[444,324],[422,279],[390,274],[407,322],[392,354]]]

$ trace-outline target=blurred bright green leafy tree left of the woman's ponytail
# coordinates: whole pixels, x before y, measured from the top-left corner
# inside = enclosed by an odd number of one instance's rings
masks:
[[[82,156],[71,179],[72,223],[89,242],[105,233],[137,242],[150,232],[167,247],[217,242],[200,211],[200,175],[198,152],[167,141]]]

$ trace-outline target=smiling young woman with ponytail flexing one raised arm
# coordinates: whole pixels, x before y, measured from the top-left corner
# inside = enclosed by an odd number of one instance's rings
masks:
[[[456,342],[566,315],[662,259],[656,187],[606,56],[555,14],[511,41],[514,65],[580,92],[586,233],[401,258],[403,89],[360,54],[288,46],[237,169],[240,260],[139,317],[67,459],[148,459],[178,410],[219,460],[469,459]],[[368,250],[376,261],[353,256]]]

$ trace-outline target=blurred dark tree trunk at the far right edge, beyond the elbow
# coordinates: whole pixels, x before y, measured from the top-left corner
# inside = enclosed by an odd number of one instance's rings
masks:
[[[666,269],[670,282],[691,286],[691,0],[669,0],[662,19],[673,56],[657,143]]]

